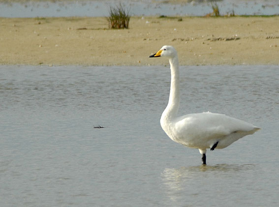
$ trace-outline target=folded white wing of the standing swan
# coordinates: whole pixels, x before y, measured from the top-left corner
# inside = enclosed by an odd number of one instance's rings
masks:
[[[252,134],[253,130],[259,129],[246,121],[210,112],[183,116],[178,119],[175,127],[177,131],[188,137],[208,139],[223,137],[238,131],[251,131]]]

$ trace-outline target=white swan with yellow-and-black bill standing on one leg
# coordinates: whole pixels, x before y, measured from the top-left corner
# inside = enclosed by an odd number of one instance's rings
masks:
[[[156,54],[150,56],[155,57],[168,58],[171,69],[169,102],[160,119],[161,127],[173,141],[189,148],[198,148],[204,165],[207,148],[226,148],[260,129],[248,122],[210,112],[178,117],[180,97],[177,52],[173,46],[163,46]]]

